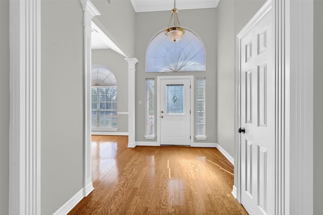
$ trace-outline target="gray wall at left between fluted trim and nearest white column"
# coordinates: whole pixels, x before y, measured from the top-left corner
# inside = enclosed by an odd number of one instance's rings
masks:
[[[41,214],[57,211],[83,187],[83,106],[80,1],[42,1]]]

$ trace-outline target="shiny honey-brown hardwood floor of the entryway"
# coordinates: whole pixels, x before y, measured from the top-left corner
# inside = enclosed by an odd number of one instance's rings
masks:
[[[69,214],[248,214],[217,148],[127,145],[127,136],[92,136],[94,190]]]

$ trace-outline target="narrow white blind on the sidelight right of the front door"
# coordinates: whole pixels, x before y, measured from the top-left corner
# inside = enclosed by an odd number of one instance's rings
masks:
[[[196,79],[196,135],[205,136],[205,78]]]

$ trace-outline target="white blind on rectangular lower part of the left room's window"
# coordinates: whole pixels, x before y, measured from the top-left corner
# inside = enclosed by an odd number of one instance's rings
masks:
[[[92,128],[117,128],[117,87],[92,87]]]

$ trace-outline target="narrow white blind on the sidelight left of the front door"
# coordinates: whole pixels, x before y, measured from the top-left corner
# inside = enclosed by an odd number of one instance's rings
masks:
[[[154,79],[146,78],[146,136],[154,136],[154,134]]]

